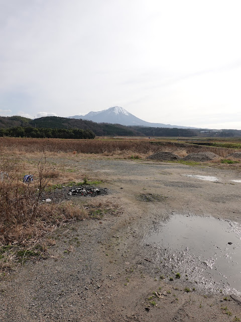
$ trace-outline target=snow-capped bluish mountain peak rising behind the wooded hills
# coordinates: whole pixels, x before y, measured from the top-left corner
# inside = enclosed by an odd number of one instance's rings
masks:
[[[97,123],[139,125],[139,126],[148,126],[148,127],[192,128],[188,126],[178,126],[178,125],[146,122],[144,120],[139,119],[135,115],[129,113],[123,107],[119,107],[119,106],[110,107],[107,110],[103,110],[103,111],[89,112],[86,115],[68,116],[68,118],[89,120]]]

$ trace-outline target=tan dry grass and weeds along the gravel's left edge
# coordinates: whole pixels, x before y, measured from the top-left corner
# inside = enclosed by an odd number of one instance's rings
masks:
[[[73,179],[68,172],[72,169],[62,164],[51,166],[43,153],[37,163],[0,157],[0,170],[9,175],[0,182],[0,278],[29,258],[48,256],[49,247],[54,245],[49,236],[59,226],[87,218],[99,219],[107,214],[121,214],[117,204],[104,199],[90,200],[87,205],[70,201],[43,202],[42,193],[48,195],[48,187],[58,184],[59,180],[68,182]],[[22,182],[26,173],[35,174],[34,183]]]

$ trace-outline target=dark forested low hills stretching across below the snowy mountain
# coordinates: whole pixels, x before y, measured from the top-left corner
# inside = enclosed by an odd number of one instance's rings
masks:
[[[13,128],[15,128],[15,130]],[[82,131],[92,131],[96,136],[241,136],[241,130],[233,129],[215,132],[212,130],[202,131],[202,129],[125,126],[121,124],[96,123],[88,120],[58,116],[46,116],[34,120],[22,116],[0,116],[0,136],[30,137],[29,135],[32,135],[31,137],[79,138],[80,136],[87,135],[83,134],[84,132],[76,131],[80,129]],[[91,136],[92,134],[89,135]]]

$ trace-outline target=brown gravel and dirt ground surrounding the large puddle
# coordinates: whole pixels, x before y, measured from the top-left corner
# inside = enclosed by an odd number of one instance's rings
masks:
[[[234,221],[238,230],[241,183],[232,180],[240,180],[240,173],[134,160],[49,161],[71,167],[76,181],[83,175],[103,180],[109,194],[96,198],[121,204],[123,214],[56,231],[49,259],[28,262],[1,283],[1,321],[241,319],[241,289],[233,289],[228,279],[215,281],[218,269],[212,276],[212,267],[205,270],[191,252],[150,242],[175,214]]]

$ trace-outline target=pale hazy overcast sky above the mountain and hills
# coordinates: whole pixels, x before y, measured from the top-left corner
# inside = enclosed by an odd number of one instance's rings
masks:
[[[0,115],[241,129],[240,0],[0,0]]]

